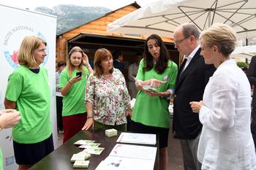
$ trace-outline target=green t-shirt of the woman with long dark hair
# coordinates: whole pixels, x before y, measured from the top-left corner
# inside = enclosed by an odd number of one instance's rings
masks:
[[[167,81],[166,84],[162,84],[157,88],[158,92],[164,92],[170,88],[175,87],[176,76],[178,68],[176,63],[168,61],[167,69],[162,74],[158,74],[154,70],[154,66],[151,70],[144,72],[143,66],[144,60],[140,61],[138,74],[136,80],[150,80],[157,79]],[[169,101],[167,98],[161,98],[159,96],[150,97],[143,90],[139,90],[135,106],[132,109],[132,120],[144,125],[150,125],[160,128],[170,128],[170,114],[169,114]]]

